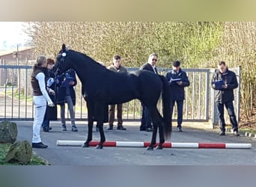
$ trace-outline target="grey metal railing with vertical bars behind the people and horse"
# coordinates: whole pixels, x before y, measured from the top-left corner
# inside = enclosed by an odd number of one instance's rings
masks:
[[[127,68],[128,71],[138,70],[138,68]],[[164,75],[171,69],[158,68],[160,74]],[[183,105],[184,121],[209,121],[213,125],[216,121],[216,107],[213,102],[213,89],[210,88],[210,76],[214,69],[183,69],[190,81],[190,86],[186,87],[185,101]],[[33,102],[31,96],[31,66],[10,66],[0,65],[0,120],[33,120]],[[236,69],[240,78],[240,69]],[[239,79],[240,80],[240,79]],[[82,98],[82,85],[78,81],[76,85],[76,120],[87,120],[87,108]],[[237,89],[235,107],[239,116],[239,93]],[[162,111],[162,103],[157,105]],[[177,109],[174,106],[173,118],[177,119]],[[59,111],[59,108],[58,108]],[[58,112],[59,113],[59,112]],[[60,115],[58,114],[58,118]],[[67,111],[67,118],[69,114]],[[124,120],[141,119],[141,103],[138,99],[133,99],[123,105]]]

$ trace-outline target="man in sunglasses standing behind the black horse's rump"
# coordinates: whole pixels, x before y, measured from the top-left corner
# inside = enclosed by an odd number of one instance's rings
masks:
[[[143,64],[139,68],[139,70],[148,70],[150,72],[158,74],[156,70],[157,58],[158,58],[158,55],[156,53],[150,54],[148,57],[147,63]],[[139,127],[139,129],[141,131],[147,131],[147,132],[153,131],[150,112],[143,102],[141,102],[141,105],[142,105],[142,117],[141,117],[141,126]]]

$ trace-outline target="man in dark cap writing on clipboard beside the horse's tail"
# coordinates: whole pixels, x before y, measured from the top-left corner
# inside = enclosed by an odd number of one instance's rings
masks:
[[[180,69],[180,61],[174,61],[172,70],[166,73],[165,79],[171,88],[171,118],[174,104],[177,103],[177,129],[182,132],[181,123],[183,121],[183,100],[185,99],[184,88],[190,85],[186,72]]]

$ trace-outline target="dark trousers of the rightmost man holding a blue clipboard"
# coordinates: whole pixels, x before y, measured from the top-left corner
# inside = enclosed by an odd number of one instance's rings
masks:
[[[231,120],[232,128],[234,131],[237,131],[238,123],[237,123],[236,114],[234,113],[233,101],[225,102],[224,104],[217,103],[218,117],[219,117],[219,128],[222,131],[225,131],[224,105],[225,105],[225,108],[227,108],[227,110],[228,110],[228,115],[229,115],[229,119]]]

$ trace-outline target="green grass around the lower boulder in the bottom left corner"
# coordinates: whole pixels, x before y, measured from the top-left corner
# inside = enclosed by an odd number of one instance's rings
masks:
[[[20,165],[18,163],[8,163],[5,162],[5,156],[9,150],[11,144],[0,144],[0,165]],[[45,160],[38,156],[32,155],[31,162],[28,165],[48,165]]]

